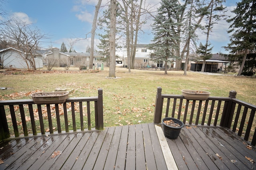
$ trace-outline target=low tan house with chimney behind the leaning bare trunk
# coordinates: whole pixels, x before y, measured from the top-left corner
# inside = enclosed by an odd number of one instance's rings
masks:
[[[60,52],[60,49],[53,48],[52,51],[46,54],[46,57],[56,59],[56,66],[66,66],[68,62],[70,62],[70,66],[89,66],[90,53]],[[94,66],[98,65],[100,67],[102,63],[106,66],[106,62],[101,61],[104,58],[103,55],[94,53],[93,58]]]

